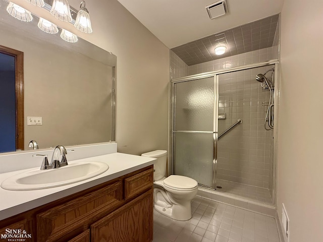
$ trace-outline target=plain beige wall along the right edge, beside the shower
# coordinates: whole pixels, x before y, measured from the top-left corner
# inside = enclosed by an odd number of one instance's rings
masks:
[[[323,239],[323,2],[285,0],[281,19],[278,214],[290,241]]]

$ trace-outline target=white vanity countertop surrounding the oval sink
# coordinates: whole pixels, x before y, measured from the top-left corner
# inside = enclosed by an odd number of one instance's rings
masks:
[[[154,163],[154,158],[129,155],[123,153],[112,153],[107,155],[94,156],[71,162],[79,161],[100,161],[109,165],[109,169],[104,173],[87,180],[79,181],[56,188],[40,189],[33,191],[9,191],[0,187],[0,220],[14,216],[16,214],[39,207],[46,203],[64,198],[74,193],[94,187],[105,181],[112,180],[132,171],[141,169]],[[30,169],[16,170],[0,174],[0,184],[8,177],[28,171]]]

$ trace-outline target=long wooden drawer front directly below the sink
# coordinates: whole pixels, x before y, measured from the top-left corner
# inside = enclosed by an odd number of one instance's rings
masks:
[[[122,181],[37,215],[37,241],[67,241],[123,203]]]

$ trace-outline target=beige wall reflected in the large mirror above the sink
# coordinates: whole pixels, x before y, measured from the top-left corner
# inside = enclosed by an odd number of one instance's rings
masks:
[[[41,31],[37,16],[17,20],[8,4],[0,0],[0,45],[23,52],[24,149],[31,140],[39,149],[115,141],[116,56],[84,39],[69,43],[60,31]],[[42,125],[27,125],[28,117],[41,117]],[[0,152],[13,151],[2,150],[2,136]]]

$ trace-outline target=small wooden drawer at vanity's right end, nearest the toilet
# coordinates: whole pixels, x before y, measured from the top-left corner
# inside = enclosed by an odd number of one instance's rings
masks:
[[[125,179],[125,200],[137,197],[153,186],[153,169],[142,171]]]

